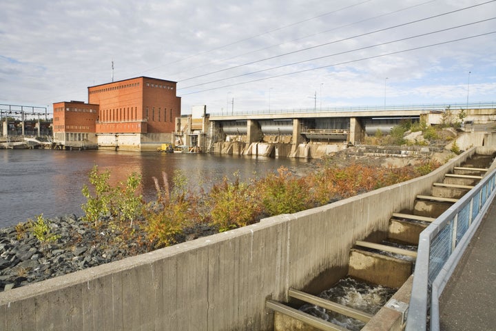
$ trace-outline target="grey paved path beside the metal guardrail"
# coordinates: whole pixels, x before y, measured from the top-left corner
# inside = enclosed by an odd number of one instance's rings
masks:
[[[496,330],[496,199],[441,294],[440,329]]]

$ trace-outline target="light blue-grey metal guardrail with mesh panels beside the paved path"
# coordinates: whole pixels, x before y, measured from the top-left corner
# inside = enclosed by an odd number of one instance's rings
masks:
[[[495,197],[496,169],[421,234],[406,331],[440,328],[438,299]]]

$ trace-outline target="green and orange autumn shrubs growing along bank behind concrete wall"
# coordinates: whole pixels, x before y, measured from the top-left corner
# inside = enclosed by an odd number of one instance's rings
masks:
[[[141,196],[141,177],[131,174],[127,181],[112,187],[108,172],[100,173],[95,166],[90,172],[93,187],[85,185],[82,190],[87,197],[82,207],[87,221],[99,224],[113,220],[112,225],[123,233],[125,228],[131,228],[127,233],[142,230],[146,238],[132,238],[144,240],[150,248],[161,248],[176,243],[185,229],[196,223],[209,223],[226,231],[256,223],[262,217],[298,212],[406,181],[440,166],[434,161],[402,168],[360,164],[335,168],[331,164],[324,162],[320,170],[302,178],[284,167],[248,183],[235,174],[234,181],[225,178],[210,192],[199,194],[188,189],[187,178],[177,170],[172,185],[165,173],[162,185],[154,178],[156,199],[149,203]],[[130,227],[124,226],[127,224]],[[19,225],[18,234],[22,231]]]

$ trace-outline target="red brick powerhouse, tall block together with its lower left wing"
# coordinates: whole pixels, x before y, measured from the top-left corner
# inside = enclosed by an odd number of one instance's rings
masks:
[[[71,101],[76,106],[54,103],[54,126],[59,128],[54,130],[55,139],[79,139],[79,133],[85,133],[81,137],[90,139],[92,133],[99,148],[122,150],[156,150],[161,143],[172,141],[176,117],[180,117],[176,82],[136,77],[87,89],[86,104],[78,101]],[[65,108],[78,111],[62,112]],[[84,114],[90,112],[80,112],[79,109],[96,112],[91,112],[92,117],[85,117]],[[92,121],[92,124],[87,121]],[[71,131],[83,130],[76,129],[79,127],[88,131]]]

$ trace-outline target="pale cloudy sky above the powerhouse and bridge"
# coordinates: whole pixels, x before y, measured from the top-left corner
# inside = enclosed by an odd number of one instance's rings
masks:
[[[183,114],[496,101],[496,1],[3,0],[0,103],[178,82]]]

